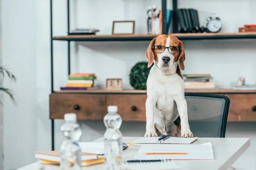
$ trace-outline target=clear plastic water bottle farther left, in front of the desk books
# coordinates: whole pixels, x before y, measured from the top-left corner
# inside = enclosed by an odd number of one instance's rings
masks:
[[[76,122],[75,113],[64,115],[65,123],[61,126],[64,141],[61,144],[61,170],[81,170],[81,149],[77,143],[82,131]]]

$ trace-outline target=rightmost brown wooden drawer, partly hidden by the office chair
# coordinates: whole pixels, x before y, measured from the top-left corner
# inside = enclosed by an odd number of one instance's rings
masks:
[[[256,94],[226,94],[225,96],[230,99],[229,122],[256,121]]]

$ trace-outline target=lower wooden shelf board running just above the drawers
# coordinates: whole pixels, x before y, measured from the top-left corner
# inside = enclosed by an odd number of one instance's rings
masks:
[[[93,90],[93,91],[55,91],[55,93],[74,94],[74,93],[87,93],[87,94],[146,94],[145,90],[123,90],[123,91],[110,91],[110,90]],[[256,94],[256,90],[233,90],[233,89],[207,89],[207,90],[185,90],[185,93],[204,93],[204,94]]]

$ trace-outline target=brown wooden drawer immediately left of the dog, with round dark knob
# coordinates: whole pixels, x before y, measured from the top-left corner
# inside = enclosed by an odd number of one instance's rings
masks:
[[[107,106],[116,105],[123,121],[146,121],[145,94],[107,94]]]

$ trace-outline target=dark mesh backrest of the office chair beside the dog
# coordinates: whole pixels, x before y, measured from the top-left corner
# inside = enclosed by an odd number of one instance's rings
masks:
[[[197,137],[225,137],[230,99],[211,94],[185,94],[189,127]]]

